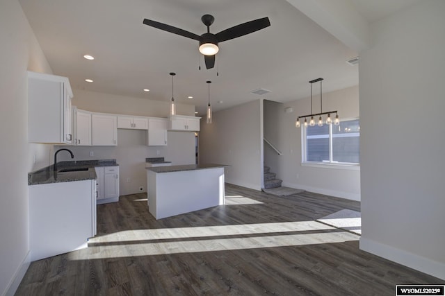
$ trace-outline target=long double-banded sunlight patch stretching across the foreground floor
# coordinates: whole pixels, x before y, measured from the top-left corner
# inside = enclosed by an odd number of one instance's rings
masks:
[[[357,241],[349,232],[330,232],[335,229],[315,221],[259,223],[209,227],[182,227],[165,229],[128,230],[90,238],[92,246],[68,254],[70,260],[105,259],[127,256],[150,256],[187,252],[211,252],[255,249],[262,247],[288,247],[322,243]],[[309,233],[296,233],[309,232]],[[274,235],[265,236],[264,234]],[[282,233],[280,235],[275,235]],[[287,233],[287,234],[286,234]],[[210,238],[254,234],[249,237]],[[191,239],[195,238],[195,239]],[[184,239],[184,241],[159,241]],[[127,242],[127,243],[126,243]],[[98,245],[95,246],[94,244]],[[103,243],[104,245],[100,245]],[[113,244],[116,243],[116,244]]]

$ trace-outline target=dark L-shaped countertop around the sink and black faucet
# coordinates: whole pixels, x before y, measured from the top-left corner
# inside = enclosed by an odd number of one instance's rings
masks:
[[[59,182],[74,182],[83,180],[95,180],[97,178],[96,166],[118,166],[116,159],[78,160],[74,162],[58,162],[57,169],[47,166],[28,174],[28,185],[51,184]],[[67,171],[85,169],[86,171]]]

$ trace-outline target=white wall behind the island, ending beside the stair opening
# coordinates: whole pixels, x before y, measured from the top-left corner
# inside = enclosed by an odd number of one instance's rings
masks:
[[[262,101],[252,101],[201,120],[200,163],[227,164],[225,182],[261,190]]]

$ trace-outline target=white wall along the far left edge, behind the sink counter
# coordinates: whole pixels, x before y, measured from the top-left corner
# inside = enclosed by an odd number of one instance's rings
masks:
[[[51,68],[17,0],[0,2],[0,40],[0,294],[13,295],[29,265],[27,174],[49,162],[28,143],[26,70]]]

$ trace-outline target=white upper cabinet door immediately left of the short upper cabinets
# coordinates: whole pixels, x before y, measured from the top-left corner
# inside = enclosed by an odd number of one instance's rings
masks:
[[[92,114],[91,125],[93,146],[118,145],[118,124],[116,116]]]

